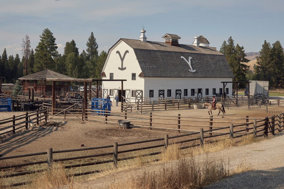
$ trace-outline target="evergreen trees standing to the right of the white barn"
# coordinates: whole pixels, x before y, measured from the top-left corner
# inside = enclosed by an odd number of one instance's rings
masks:
[[[249,69],[245,63],[250,62],[245,54],[243,46],[234,45],[232,36],[224,41],[220,52],[226,57],[232,72],[235,76],[233,81],[269,81],[270,88],[284,87],[284,49],[279,41],[270,45],[266,40],[256,57],[254,71]],[[242,87],[245,87],[244,84]]]

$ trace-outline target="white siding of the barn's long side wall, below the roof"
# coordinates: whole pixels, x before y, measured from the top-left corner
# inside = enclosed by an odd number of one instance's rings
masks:
[[[154,90],[154,97],[151,101],[158,100],[159,90],[165,90],[165,98],[175,98],[176,89],[181,90],[181,97],[197,97],[199,88],[202,88],[202,96],[212,96],[213,88],[219,94],[219,88],[223,90],[223,83],[221,81],[232,81],[232,78],[145,78],[144,97],[149,97],[149,90]],[[209,89],[209,94],[205,95],[205,89]],[[225,89],[229,89],[229,96],[232,95],[232,83],[228,83]],[[171,90],[171,97],[167,97],[167,90]],[[187,96],[184,96],[184,89],[187,89]],[[191,89],[195,90],[194,96],[191,96]],[[223,91],[222,91],[223,92]]]

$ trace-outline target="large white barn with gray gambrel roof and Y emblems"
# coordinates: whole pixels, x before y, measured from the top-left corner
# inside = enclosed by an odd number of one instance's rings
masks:
[[[139,40],[120,39],[108,51],[101,71],[102,79],[127,79],[123,96],[130,102],[141,97],[188,98],[222,94],[222,81],[234,75],[225,55],[209,47],[203,36],[193,45],[179,44],[180,37],[165,34],[165,42],[147,41],[144,28]],[[225,93],[232,95],[232,84]],[[121,82],[102,82],[102,96],[121,95]]]

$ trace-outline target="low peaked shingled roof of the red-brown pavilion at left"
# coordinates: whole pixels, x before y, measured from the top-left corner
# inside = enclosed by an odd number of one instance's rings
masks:
[[[74,79],[74,78],[46,69],[37,73],[32,73],[30,75],[19,77],[19,79],[36,80],[36,79]]]

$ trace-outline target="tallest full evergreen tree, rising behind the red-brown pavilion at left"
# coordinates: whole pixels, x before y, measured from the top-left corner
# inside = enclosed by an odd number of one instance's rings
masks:
[[[54,70],[55,62],[52,57],[58,56],[57,45],[53,33],[48,28],[39,36],[40,42],[34,53],[34,72],[44,69]]]

